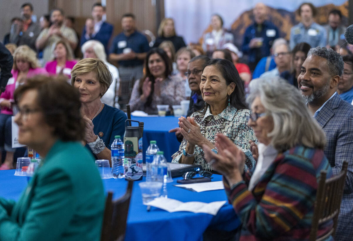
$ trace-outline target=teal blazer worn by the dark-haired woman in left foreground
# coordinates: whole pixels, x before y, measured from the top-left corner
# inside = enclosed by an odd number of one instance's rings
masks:
[[[17,203],[0,198],[0,241],[99,240],[105,198],[92,155],[57,141],[42,163]]]

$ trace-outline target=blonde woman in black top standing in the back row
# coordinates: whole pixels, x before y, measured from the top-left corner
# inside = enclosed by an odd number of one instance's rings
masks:
[[[159,47],[163,41],[171,41],[174,45],[175,51],[186,46],[183,37],[177,36],[174,28],[174,20],[172,18],[164,18],[158,27],[158,37],[153,47]]]

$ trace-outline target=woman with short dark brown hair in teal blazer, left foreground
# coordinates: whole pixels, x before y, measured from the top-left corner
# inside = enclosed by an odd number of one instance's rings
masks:
[[[42,157],[18,202],[0,198],[2,240],[99,240],[104,191],[83,140],[79,93],[38,76],[15,93],[19,142]],[[11,188],[11,187],[10,187]]]

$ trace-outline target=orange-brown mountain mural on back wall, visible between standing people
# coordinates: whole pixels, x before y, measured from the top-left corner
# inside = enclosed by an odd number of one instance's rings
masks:
[[[348,23],[348,1],[340,6],[336,6],[334,4],[328,4],[321,7],[317,7],[317,16],[315,17],[315,21],[318,24],[327,24],[327,17],[331,10],[338,9],[342,12],[343,25],[347,25]],[[242,13],[238,19],[236,19],[232,26],[230,32],[234,35],[234,44],[238,47],[241,47],[243,43],[243,36],[246,28],[253,23],[253,14],[252,10],[245,11]],[[296,11],[290,12],[284,9],[276,9],[272,7],[268,7],[268,19],[273,22],[278,29],[280,30],[280,36],[289,40],[291,28],[298,24],[300,21],[300,17],[296,14]],[[209,26],[204,33],[212,31],[211,26]],[[202,42],[202,38],[200,39]]]

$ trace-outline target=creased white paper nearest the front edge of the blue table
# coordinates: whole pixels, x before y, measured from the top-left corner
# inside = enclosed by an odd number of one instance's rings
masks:
[[[166,210],[168,212],[195,212],[195,213],[205,213],[216,215],[221,207],[226,203],[226,201],[217,201],[212,203],[203,203],[203,202],[180,202],[171,198],[159,197],[155,198],[151,202],[147,203],[149,206],[154,206]]]

